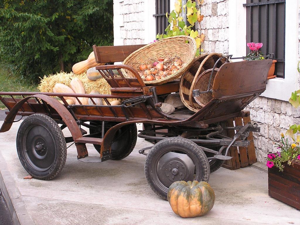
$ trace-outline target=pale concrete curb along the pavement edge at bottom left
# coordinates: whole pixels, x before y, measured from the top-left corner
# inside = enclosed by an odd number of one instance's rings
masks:
[[[0,188],[15,225],[35,225],[0,152]]]

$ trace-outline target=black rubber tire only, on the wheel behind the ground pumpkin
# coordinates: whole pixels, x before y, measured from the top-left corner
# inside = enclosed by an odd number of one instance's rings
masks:
[[[196,169],[196,171],[199,171],[199,174],[196,174],[195,180],[199,182],[208,182],[210,174],[208,159],[200,146],[197,146],[192,141],[182,137],[170,137],[159,141],[152,147],[152,149],[146,156],[144,169],[149,186],[158,196],[165,200],[167,200],[169,187],[164,186],[159,181],[158,177],[154,177],[156,176],[155,168],[157,169],[155,161],[157,161],[158,157],[161,158],[161,156],[163,156],[165,153],[170,152],[164,152],[170,147],[179,147],[181,149],[184,149],[185,153],[187,153],[187,155],[192,158],[195,164],[195,168],[198,168]]]

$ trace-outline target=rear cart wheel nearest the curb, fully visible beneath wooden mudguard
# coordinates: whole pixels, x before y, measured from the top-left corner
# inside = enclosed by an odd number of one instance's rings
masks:
[[[50,180],[58,175],[67,158],[67,146],[58,124],[49,116],[27,117],[17,133],[21,164],[34,178]]]

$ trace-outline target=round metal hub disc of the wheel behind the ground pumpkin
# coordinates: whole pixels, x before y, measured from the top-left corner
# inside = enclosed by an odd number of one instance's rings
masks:
[[[159,160],[158,178],[169,187],[175,181],[193,180],[195,164],[186,155],[176,152],[167,152]]]

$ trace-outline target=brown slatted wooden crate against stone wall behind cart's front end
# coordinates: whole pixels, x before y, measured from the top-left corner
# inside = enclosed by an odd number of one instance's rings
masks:
[[[235,117],[234,119],[229,119],[226,121],[226,126],[234,127],[234,126],[243,126],[250,122],[250,112],[247,111],[249,116],[247,117]],[[235,135],[234,130],[227,130],[227,136],[233,137]],[[250,144],[247,148],[245,147],[231,147],[229,151],[229,156],[233,158],[231,160],[226,160],[222,167],[229,169],[229,170],[237,170],[240,167],[246,167],[250,164],[256,163],[256,155],[255,155],[255,148],[253,142],[253,134],[250,132],[248,138]]]

